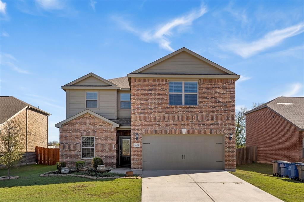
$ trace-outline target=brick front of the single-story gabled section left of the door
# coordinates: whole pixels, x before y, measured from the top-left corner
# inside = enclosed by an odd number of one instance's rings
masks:
[[[81,158],[81,137],[95,137],[95,157],[102,158],[108,168],[115,168],[118,156],[117,131],[113,125],[89,113],[65,123],[60,128],[60,161],[67,167],[75,167],[75,162],[83,160],[91,166],[92,159]]]

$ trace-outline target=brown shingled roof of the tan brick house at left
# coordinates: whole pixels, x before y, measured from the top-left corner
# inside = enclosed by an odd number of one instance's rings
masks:
[[[4,123],[27,107],[35,109],[46,115],[51,115],[50,113],[47,113],[33,105],[23,102],[22,100],[17,99],[13,96],[0,96],[0,123]]]

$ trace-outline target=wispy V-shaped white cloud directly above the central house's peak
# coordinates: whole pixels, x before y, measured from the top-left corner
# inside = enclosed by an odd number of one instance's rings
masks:
[[[133,32],[134,34],[140,36],[140,39],[144,42],[154,42],[158,45],[169,51],[174,51],[171,47],[170,37],[174,36],[175,31],[184,31],[186,28],[192,25],[192,22],[195,19],[198,19],[207,12],[205,6],[193,10],[186,15],[174,18],[167,23],[161,23],[155,26],[152,30],[141,30],[130,25],[129,22],[126,22],[123,18],[113,17],[113,19],[118,22],[123,29]]]

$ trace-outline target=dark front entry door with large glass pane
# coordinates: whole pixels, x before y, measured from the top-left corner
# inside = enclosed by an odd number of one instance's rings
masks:
[[[131,165],[131,138],[119,137],[119,165]]]

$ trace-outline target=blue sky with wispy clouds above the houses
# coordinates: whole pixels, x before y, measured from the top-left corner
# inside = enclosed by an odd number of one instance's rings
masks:
[[[186,47],[241,75],[236,107],[304,96],[303,1],[0,1],[0,95],[65,119],[60,86]]]

